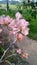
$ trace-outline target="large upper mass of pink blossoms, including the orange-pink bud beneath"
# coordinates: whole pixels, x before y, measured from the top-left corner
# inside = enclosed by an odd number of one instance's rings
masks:
[[[9,35],[16,35],[17,39],[22,40],[23,35],[28,35],[29,33],[29,22],[25,19],[22,19],[22,15],[19,12],[15,14],[15,17],[15,19],[10,18],[9,16],[6,16],[4,18],[0,17],[0,24],[8,26]]]

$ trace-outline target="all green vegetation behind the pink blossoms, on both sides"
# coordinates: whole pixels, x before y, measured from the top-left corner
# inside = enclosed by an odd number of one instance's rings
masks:
[[[15,13],[17,12],[17,10],[10,10],[9,12],[7,12],[6,10],[2,9],[0,10],[0,15],[5,14],[6,16],[9,15],[10,17],[14,18],[15,17]],[[29,21],[29,37],[31,39],[35,39],[37,40],[37,12],[32,11],[32,9],[24,9],[22,11],[22,15],[23,18],[25,18],[27,21]]]

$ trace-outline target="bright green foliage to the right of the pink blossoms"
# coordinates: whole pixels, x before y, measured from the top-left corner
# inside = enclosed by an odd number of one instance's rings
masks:
[[[37,40],[37,12],[36,10],[24,9],[22,14],[23,14],[23,17],[30,23],[29,37]]]

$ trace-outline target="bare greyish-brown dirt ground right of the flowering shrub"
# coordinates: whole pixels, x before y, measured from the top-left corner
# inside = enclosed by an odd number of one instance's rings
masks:
[[[37,41],[25,37],[21,43],[17,43],[24,52],[29,54],[30,65],[37,65]]]

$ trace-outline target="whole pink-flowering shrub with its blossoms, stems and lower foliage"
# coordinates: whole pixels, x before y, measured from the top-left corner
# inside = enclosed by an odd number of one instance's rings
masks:
[[[28,25],[29,23],[22,19],[19,12],[15,14],[15,19],[9,16],[0,17],[0,44],[5,49],[0,58],[0,63],[6,62],[10,65],[26,65],[28,63],[24,60],[28,58],[28,54],[23,54],[22,50],[16,45],[17,40],[21,41],[24,36],[28,35]],[[11,48],[12,51],[10,51]],[[7,54],[8,52],[9,54]],[[6,57],[6,55],[8,56]]]

